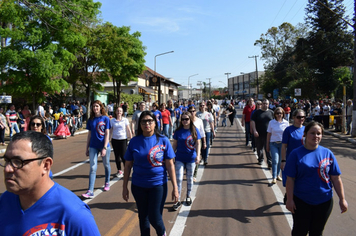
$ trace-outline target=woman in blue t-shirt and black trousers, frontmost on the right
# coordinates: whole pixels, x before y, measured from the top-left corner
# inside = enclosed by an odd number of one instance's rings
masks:
[[[333,186],[341,213],[348,208],[336,158],[329,149],[319,146],[323,134],[320,123],[310,122],[304,130],[304,145],[291,152],[284,169],[286,207],[293,214],[293,236],[323,235],[333,208]]]

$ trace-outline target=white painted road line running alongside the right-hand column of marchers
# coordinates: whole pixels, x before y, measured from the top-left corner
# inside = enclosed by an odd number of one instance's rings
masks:
[[[245,127],[242,127],[241,122],[239,119],[235,118],[237,120],[237,123],[239,124],[240,128],[242,129],[243,133],[245,132]],[[254,153],[256,156],[256,160],[258,160],[258,156],[257,153]],[[285,207],[284,203],[283,203],[283,198],[284,198],[284,194],[282,193],[282,190],[279,188],[278,184],[272,184],[272,174],[271,172],[268,170],[268,167],[266,165],[266,162],[263,161],[262,165],[261,165],[261,169],[263,171],[263,173],[265,174],[266,178],[268,179],[268,182],[270,184],[270,186],[272,187],[272,191],[274,193],[274,195],[276,196],[276,199],[279,203],[279,206],[281,207],[287,221],[289,224],[289,227],[292,228],[293,227],[293,217],[292,217],[292,213],[290,211],[287,210],[287,208]]]

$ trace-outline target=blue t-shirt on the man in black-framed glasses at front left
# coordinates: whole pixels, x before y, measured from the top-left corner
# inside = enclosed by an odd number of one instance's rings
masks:
[[[0,212],[0,235],[100,235],[88,205],[58,183],[25,211],[19,196],[5,191]]]

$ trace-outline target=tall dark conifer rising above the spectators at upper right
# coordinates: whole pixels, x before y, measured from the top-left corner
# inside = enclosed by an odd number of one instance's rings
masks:
[[[319,1],[308,0],[306,22],[312,30],[307,38],[298,42],[296,58],[313,71],[315,90],[330,95],[339,83],[333,69],[352,64],[353,36],[341,19],[345,13],[343,1]]]

